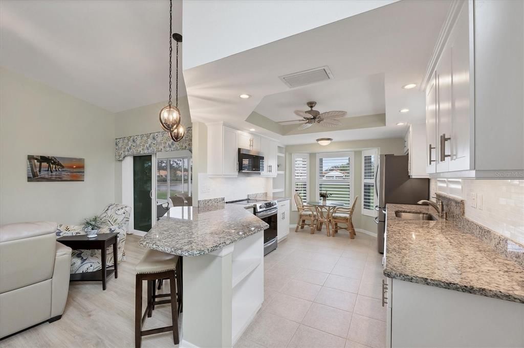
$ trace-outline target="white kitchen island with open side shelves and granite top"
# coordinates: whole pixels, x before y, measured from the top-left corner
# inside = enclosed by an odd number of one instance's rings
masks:
[[[140,240],[184,256],[181,347],[231,347],[264,300],[267,223],[238,205],[173,207]]]

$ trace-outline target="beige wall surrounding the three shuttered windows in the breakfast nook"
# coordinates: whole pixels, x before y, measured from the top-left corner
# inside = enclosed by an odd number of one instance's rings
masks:
[[[369,140],[350,140],[350,141],[334,141],[328,146],[321,146],[318,143],[289,145],[286,147],[286,168],[289,169],[290,175],[286,176],[286,196],[292,197],[292,154],[293,153],[310,153],[310,180],[309,180],[309,199],[316,200],[314,195],[314,187],[317,185],[317,178],[314,173],[316,171],[316,153],[325,152],[343,152],[353,151],[355,154],[354,160],[354,192],[359,196],[357,206],[353,215],[353,224],[357,229],[363,229],[370,232],[376,232],[376,224],[373,217],[362,215],[362,150],[378,148],[379,154],[396,154],[401,155],[403,152],[404,141],[401,138],[393,139],[369,139]],[[291,210],[290,223],[296,224],[298,221],[297,211]]]

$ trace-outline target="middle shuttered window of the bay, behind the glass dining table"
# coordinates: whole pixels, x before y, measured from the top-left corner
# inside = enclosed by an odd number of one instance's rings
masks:
[[[319,153],[318,154],[318,192],[316,199],[321,200],[319,193],[328,192],[328,202],[339,202],[351,205],[354,196],[353,152]]]

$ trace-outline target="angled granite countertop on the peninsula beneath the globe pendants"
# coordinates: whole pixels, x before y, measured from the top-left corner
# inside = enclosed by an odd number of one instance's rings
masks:
[[[173,207],[140,239],[139,245],[169,254],[198,256],[268,228],[242,205]]]

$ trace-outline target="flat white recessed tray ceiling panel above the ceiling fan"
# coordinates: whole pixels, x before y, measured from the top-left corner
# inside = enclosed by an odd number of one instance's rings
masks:
[[[347,111],[346,117],[384,114],[384,74],[350,80],[335,79],[304,88],[265,96],[255,108],[256,113],[274,121],[301,120],[294,110],[309,110],[307,102],[316,102],[315,110]]]

